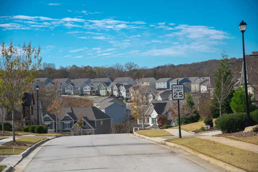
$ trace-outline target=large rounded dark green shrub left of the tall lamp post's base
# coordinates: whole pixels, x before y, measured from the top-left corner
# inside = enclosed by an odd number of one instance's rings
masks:
[[[215,120],[215,125],[223,133],[232,133],[245,128],[246,120],[244,113],[224,114]]]

